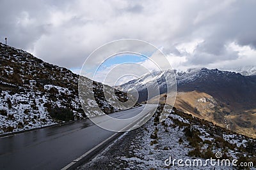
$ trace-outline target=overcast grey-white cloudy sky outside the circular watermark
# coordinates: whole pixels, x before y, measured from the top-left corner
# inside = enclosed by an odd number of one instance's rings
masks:
[[[148,41],[174,68],[256,66],[256,1],[0,1],[0,39],[79,69],[116,39]]]

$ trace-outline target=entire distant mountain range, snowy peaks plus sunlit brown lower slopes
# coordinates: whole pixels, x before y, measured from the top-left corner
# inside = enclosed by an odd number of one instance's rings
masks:
[[[256,76],[243,76],[240,73],[207,68],[174,72],[179,94],[175,101],[177,108],[222,127],[255,136]],[[172,80],[172,76],[170,70],[148,73],[120,85],[118,89],[124,92],[136,89],[140,102],[155,103],[158,96],[148,97],[147,87],[153,89],[158,86],[160,100],[164,101],[167,93],[166,82]],[[153,81],[154,79],[156,80]]]

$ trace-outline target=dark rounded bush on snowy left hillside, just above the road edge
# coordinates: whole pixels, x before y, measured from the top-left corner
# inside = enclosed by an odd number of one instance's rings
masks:
[[[57,120],[63,120],[63,121],[74,120],[74,113],[69,108],[59,108],[59,107],[53,108],[49,112],[49,115],[52,118],[55,118]]]

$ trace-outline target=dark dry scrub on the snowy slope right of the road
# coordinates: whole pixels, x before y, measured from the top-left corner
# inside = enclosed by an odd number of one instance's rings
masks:
[[[159,118],[157,117],[159,117],[159,112],[161,112],[161,109],[163,109],[163,104],[159,106],[159,110],[157,110],[154,115],[154,122],[156,123],[154,125],[159,125],[159,122],[157,122]],[[253,162],[253,165],[256,165],[256,141],[254,139],[241,136],[236,132],[229,131],[228,129],[218,125],[214,125],[212,122],[207,120],[193,117],[191,114],[184,113],[183,111],[179,111],[176,108],[173,108],[173,111],[173,115],[179,115],[180,117],[189,121],[188,124],[180,121],[178,118],[173,118],[171,116],[168,117],[173,122],[173,125],[170,124],[170,126],[173,128],[179,127],[179,129],[182,129],[184,132],[185,139],[180,138],[179,143],[182,144],[184,143],[184,140],[186,140],[189,142],[189,146],[193,148],[193,150],[188,153],[189,157],[201,157],[203,159],[210,159],[211,157],[215,157],[213,150],[221,150],[221,153],[223,153],[221,159],[232,159],[230,151],[234,151],[236,152],[238,162]],[[168,124],[164,122],[162,122],[160,125],[162,125],[164,129],[168,127]],[[208,139],[202,139],[200,136],[204,135],[195,127],[205,129],[205,132],[211,136],[211,141]],[[150,135],[150,138],[153,139],[150,145],[157,144],[157,131],[158,129],[156,127],[154,134]],[[233,137],[224,139],[224,134],[234,136],[235,139],[239,139],[240,141],[242,139],[246,140],[246,143],[245,145],[237,146],[236,143],[230,142]],[[164,147],[164,150],[165,149],[168,148]]]

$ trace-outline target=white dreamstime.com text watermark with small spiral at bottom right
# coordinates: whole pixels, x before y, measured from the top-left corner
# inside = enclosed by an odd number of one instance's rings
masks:
[[[221,159],[221,152],[215,153],[215,158],[210,159],[173,159],[171,156],[164,160],[164,166],[178,167],[253,167],[253,162],[239,162],[237,159]]]

